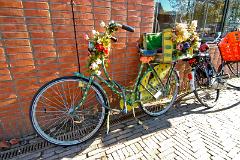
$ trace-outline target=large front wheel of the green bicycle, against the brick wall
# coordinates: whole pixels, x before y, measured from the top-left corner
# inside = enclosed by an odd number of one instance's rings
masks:
[[[42,86],[30,108],[33,128],[45,140],[56,145],[75,145],[90,139],[105,121],[106,97],[94,83],[86,101],[79,105],[87,79],[62,77]]]

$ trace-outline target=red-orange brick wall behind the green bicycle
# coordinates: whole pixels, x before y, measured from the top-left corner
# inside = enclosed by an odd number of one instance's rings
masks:
[[[110,75],[129,84],[138,69],[137,40],[151,32],[153,0],[75,0],[81,71],[86,70],[83,34],[110,19],[136,28],[121,30]],[[77,71],[70,0],[0,0],[0,140],[32,133],[29,104],[45,82]],[[127,47],[126,47],[127,44]]]

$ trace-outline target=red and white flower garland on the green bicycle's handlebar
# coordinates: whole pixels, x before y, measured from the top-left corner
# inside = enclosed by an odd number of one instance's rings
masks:
[[[89,42],[89,59],[87,66],[91,73],[97,75],[101,74],[100,66],[102,64],[108,66],[108,63],[110,62],[109,51],[111,48],[111,38],[112,34],[118,29],[118,26],[114,21],[111,21],[108,25],[102,21],[100,26],[105,28],[105,32],[99,33],[98,31],[92,30],[91,38],[89,38],[87,34],[84,35],[84,39]]]

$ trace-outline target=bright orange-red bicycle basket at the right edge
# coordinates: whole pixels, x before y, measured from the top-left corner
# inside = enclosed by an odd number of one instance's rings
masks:
[[[228,33],[219,43],[219,49],[224,61],[240,61],[240,31]]]

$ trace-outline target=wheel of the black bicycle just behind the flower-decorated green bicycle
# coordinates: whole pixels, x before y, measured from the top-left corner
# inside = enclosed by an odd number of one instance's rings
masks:
[[[210,72],[209,73],[206,73]],[[194,72],[194,91],[198,101],[206,107],[214,107],[219,99],[220,80],[215,70],[210,66],[206,70],[196,67]],[[207,74],[209,74],[207,76]]]

